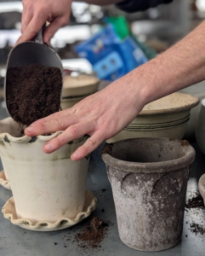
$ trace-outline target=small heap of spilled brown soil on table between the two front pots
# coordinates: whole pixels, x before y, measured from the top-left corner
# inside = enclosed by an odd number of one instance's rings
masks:
[[[78,246],[81,248],[100,247],[100,242],[103,241],[108,224],[97,217],[91,219],[88,227],[75,236]]]

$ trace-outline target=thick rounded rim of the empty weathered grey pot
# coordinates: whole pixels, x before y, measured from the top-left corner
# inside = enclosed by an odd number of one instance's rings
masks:
[[[152,141],[162,141],[162,140],[169,140],[169,138],[159,138],[159,137],[139,137],[139,138],[132,138],[126,139],[123,141],[134,141],[134,140],[152,140]],[[175,140],[176,142],[181,142],[179,140]],[[118,141],[117,144],[122,143],[122,141]],[[108,144],[109,145],[109,144]],[[167,160],[167,161],[160,161],[160,162],[128,162],[124,160],[117,160],[111,156],[111,154],[102,153],[102,159],[104,160],[105,164],[108,166],[112,166],[112,168],[116,168],[122,172],[144,172],[144,173],[166,173],[166,172],[173,172],[179,169],[185,168],[186,166],[191,165],[191,163],[195,160],[195,149],[189,144],[182,147],[186,147],[186,154],[178,159],[174,160]]]

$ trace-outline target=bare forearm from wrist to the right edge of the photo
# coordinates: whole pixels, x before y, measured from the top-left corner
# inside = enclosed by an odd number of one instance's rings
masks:
[[[124,78],[145,104],[205,79],[205,22],[157,58]]]

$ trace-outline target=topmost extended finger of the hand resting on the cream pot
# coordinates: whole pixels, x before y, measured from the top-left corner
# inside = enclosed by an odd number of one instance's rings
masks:
[[[54,115],[55,116],[55,115]],[[77,123],[76,116],[67,116],[64,113],[58,113],[58,118],[52,118],[49,121],[37,121],[26,128],[27,136],[34,137],[40,134],[52,133],[55,131],[64,131],[68,126]]]

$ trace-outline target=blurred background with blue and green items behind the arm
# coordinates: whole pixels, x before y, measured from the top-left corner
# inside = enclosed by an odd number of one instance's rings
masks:
[[[20,37],[21,13],[21,1],[0,0],[2,88],[9,51]],[[101,8],[87,3],[72,3],[71,20],[56,32],[51,45],[60,55],[64,67],[83,73],[94,72],[100,79],[112,81],[168,49],[204,17],[204,0],[175,0],[171,4],[132,15],[115,6]],[[105,44],[110,46],[109,53],[100,51]],[[92,55],[88,49],[90,45],[94,48]],[[118,55],[114,55],[114,51]],[[123,52],[128,55],[130,52],[130,60],[134,56],[129,67]],[[107,55],[112,56],[113,67],[106,65]]]

